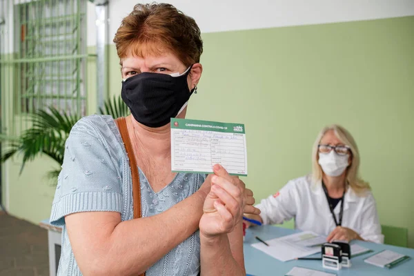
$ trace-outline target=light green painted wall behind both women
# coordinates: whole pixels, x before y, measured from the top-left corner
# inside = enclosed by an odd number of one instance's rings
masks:
[[[413,30],[414,17],[404,17],[204,34],[204,74],[188,118],[246,124],[244,181],[257,200],[310,172],[317,133],[342,124],[359,146],[381,223],[408,228],[414,248]],[[109,50],[116,95],[119,61]],[[40,180],[44,166],[30,164],[21,177],[18,166],[9,170],[13,214],[49,216],[54,188]]]

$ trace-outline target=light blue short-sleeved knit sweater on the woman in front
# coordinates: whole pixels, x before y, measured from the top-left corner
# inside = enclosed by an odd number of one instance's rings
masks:
[[[142,217],[157,215],[193,195],[205,178],[206,175],[179,173],[168,186],[154,193],[144,173],[139,170]],[[119,212],[122,221],[133,218],[128,156],[110,116],[84,117],[72,128],[66,141],[50,216],[51,224],[63,228],[59,276],[82,275],[70,246],[64,217],[90,211]],[[150,267],[146,275],[198,275],[199,255],[197,231]]]

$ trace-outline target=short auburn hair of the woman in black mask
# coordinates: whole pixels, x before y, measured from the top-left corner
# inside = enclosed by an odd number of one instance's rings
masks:
[[[201,32],[195,20],[167,3],[137,4],[114,38],[119,59],[159,55],[166,50],[185,66],[200,61]]]

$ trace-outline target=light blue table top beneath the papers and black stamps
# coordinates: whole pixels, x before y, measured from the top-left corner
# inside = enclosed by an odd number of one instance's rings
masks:
[[[257,240],[255,236],[261,237],[262,239],[274,239],[276,237],[282,237],[299,232],[298,230],[291,230],[286,228],[279,228],[275,226],[255,226],[246,230],[246,237],[244,240],[244,260],[246,264],[246,272],[255,276],[266,276],[266,275],[284,275],[288,273],[294,266],[302,266],[304,268],[312,268],[317,270],[324,270],[330,273],[336,273],[339,275],[352,275],[352,276],[380,276],[380,275],[414,275],[414,249],[403,248],[398,246],[388,246],[385,244],[374,244],[371,242],[353,241],[351,242],[364,246],[374,250],[373,253],[364,254],[351,259],[351,268],[342,268],[341,270],[330,270],[322,268],[322,261],[290,261],[280,262],[279,260],[270,257],[266,253],[263,253],[250,244],[255,244]],[[371,264],[366,264],[364,259],[381,250],[388,249],[393,250],[397,253],[410,256],[411,260],[404,262],[394,268],[380,268]],[[352,253],[351,253],[352,254]],[[320,257],[320,254],[313,255],[312,257]]]

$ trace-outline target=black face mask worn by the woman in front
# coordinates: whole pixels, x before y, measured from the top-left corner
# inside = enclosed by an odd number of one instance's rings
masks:
[[[152,72],[129,77],[122,82],[121,97],[139,123],[150,128],[165,126],[193,94],[187,83],[190,70],[179,77]]]

